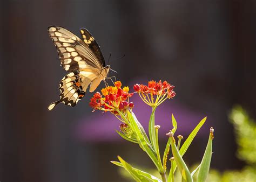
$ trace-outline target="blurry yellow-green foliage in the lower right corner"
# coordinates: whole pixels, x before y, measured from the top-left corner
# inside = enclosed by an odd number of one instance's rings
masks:
[[[256,123],[241,106],[235,106],[230,115],[234,125],[235,140],[238,144],[237,157],[246,163],[240,171],[220,173],[211,170],[207,181],[220,182],[256,182]]]

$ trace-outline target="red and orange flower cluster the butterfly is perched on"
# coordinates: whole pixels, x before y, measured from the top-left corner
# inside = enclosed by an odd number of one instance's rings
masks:
[[[126,109],[132,109],[134,104],[129,103],[129,98],[133,93],[129,93],[129,87],[121,88],[120,81],[114,82],[114,86],[108,86],[101,90],[102,94],[96,92],[90,101],[90,106],[94,110],[110,111],[118,115],[118,110],[125,112]]]

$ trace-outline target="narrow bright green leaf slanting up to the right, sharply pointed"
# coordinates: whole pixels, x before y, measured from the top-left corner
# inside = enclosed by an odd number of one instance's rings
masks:
[[[183,156],[188,147],[190,146],[190,144],[192,143],[194,137],[197,135],[197,132],[199,131],[199,129],[204,125],[205,121],[206,121],[207,117],[204,117],[203,120],[201,120],[198,125],[196,126],[196,128],[194,128],[194,130],[191,132],[191,134],[187,137],[186,141],[184,142],[184,144],[181,146],[181,149],[179,150],[179,153],[181,156]],[[173,171],[176,171],[176,162],[173,163]]]

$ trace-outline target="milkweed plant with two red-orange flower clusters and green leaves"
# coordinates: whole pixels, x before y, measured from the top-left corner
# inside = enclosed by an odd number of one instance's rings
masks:
[[[168,139],[168,141],[164,153],[161,154],[158,144],[158,130],[160,129],[160,125],[155,124],[155,112],[161,103],[168,99],[173,99],[176,95],[173,90],[174,86],[167,81],[161,82],[160,80],[159,82],[149,81],[147,85],[136,84],[133,86],[133,89],[134,92],[129,93],[129,87],[122,87],[122,83],[116,81],[114,82],[114,86],[107,86],[101,90],[101,93],[95,93],[90,100],[90,106],[93,108],[93,111],[103,110],[104,112],[110,112],[120,121],[120,130],[117,131],[117,133],[122,138],[126,139],[126,141],[139,145],[156,166],[161,179],[150,173],[132,167],[120,156],[118,156],[119,162],[111,161],[111,163],[123,167],[136,181],[173,182],[174,172],[177,167],[182,178],[179,181],[191,182],[193,181],[193,178],[196,178],[198,182],[206,181],[212,157],[213,128],[210,128],[210,136],[208,138],[205,153],[196,170],[190,172],[182,158],[187,151],[188,146],[190,146],[194,137],[197,135],[197,132],[205,123],[206,117],[198,123],[197,127],[194,128],[183,145],[181,145],[183,136],[178,135],[177,138],[174,137],[177,130],[177,122],[172,115],[172,127],[170,126],[170,129],[172,129],[166,134],[166,139]],[[132,111],[134,103],[130,102],[130,98],[134,94],[138,94],[145,104],[152,107],[148,135]],[[171,163],[169,170],[166,168],[167,161]]]

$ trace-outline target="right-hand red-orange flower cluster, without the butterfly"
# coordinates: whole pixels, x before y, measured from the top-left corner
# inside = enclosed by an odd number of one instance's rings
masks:
[[[173,88],[174,86],[170,83],[167,81],[161,82],[161,80],[159,82],[149,81],[147,86],[143,84],[133,86],[140,98],[151,107],[157,107],[166,99],[172,99],[176,95]]]

